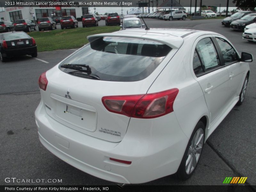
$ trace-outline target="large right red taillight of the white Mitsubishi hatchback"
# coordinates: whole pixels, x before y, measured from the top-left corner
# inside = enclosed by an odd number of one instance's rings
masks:
[[[173,111],[173,103],[179,92],[174,88],[145,95],[102,97],[108,111],[135,118],[156,118]]]

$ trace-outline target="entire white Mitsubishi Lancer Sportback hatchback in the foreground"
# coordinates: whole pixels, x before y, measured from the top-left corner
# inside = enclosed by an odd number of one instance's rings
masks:
[[[240,56],[207,31],[130,29],[87,38],[39,78],[41,143],[117,183],[176,172],[188,179],[206,139],[244,101],[252,55]]]

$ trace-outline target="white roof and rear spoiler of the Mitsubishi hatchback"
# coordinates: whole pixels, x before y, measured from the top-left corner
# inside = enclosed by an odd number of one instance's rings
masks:
[[[194,34],[194,35],[191,35]],[[160,43],[166,44],[173,49],[179,49],[184,42],[185,37],[197,38],[202,35],[220,35],[211,31],[199,31],[192,29],[174,29],[174,28],[151,28],[145,30],[144,28],[134,28],[129,30],[120,30],[113,33],[103,33],[88,36],[89,42],[94,41],[99,37],[104,36],[114,36],[114,37],[131,37],[139,39],[147,39],[151,41],[158,41]]]

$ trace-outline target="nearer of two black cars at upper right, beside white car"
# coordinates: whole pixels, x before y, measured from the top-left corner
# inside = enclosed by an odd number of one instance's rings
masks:
[[[246,25],[256,22],[256,13],[245,15],[241,19],[235,20],[230,24],[230,28],[234,30],[244,30]]]

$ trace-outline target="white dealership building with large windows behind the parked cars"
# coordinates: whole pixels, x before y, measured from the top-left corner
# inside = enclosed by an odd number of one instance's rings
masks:
[[[60,17],[73,15],[75,18],[81,18],[84,14],[89,13],[88,7],[71,7],[70,5],[62,5],[61,10],[56,10],[53,5],[42,5],[38,7],[25,7],[25,6],[8,6],[0,10],[0,19],[9,20],[14,22],[19,19],[33,20],[33,13],[35,14],[36,20],[42,17]]]

